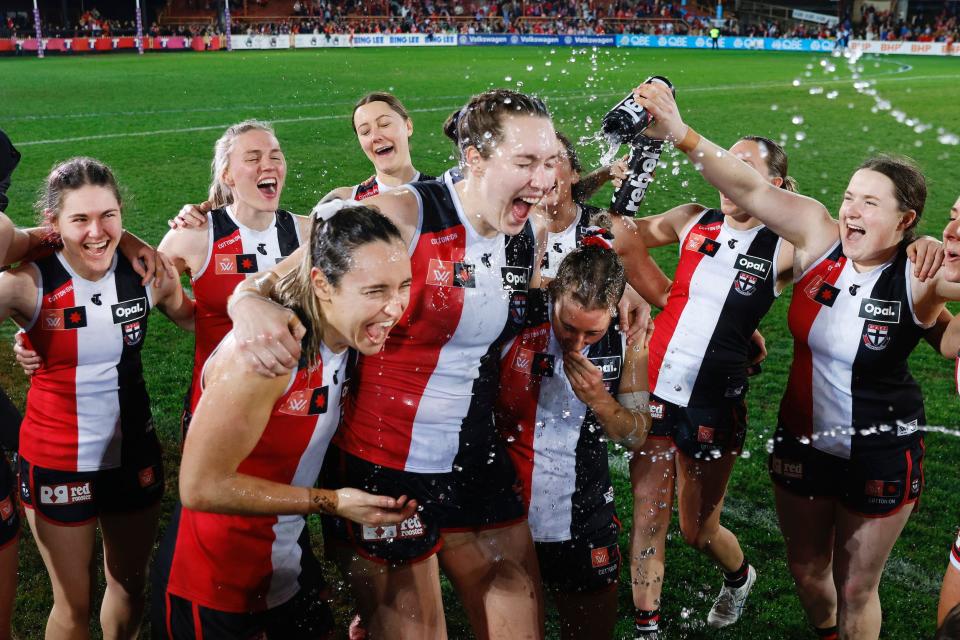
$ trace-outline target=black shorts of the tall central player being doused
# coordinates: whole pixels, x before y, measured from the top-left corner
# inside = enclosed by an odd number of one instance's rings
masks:
[[[525,518],[516,472],[500,443],[489,463],[455,464],[449,473],[412,473],[367,462],[335,446],[327,452],[321,486],[355,487],[369,493],[417,501],[417,512],[399,525],[367,527],[345,518],[323,517],[324,540],[346,543],[361,556],[384,564],[418,562],[436,553],[444,531],[479,531]],[[479,458],[479,457],[478,457]]]

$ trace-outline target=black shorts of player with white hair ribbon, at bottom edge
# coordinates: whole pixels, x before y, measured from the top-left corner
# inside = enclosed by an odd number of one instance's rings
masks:
[[[153,614],[154,640],[320,640],[332,638],[333,613],[321,588],[300,589],[266,611],[227,613],[171,593]],[[157,599],[154,599],[154,603]]]

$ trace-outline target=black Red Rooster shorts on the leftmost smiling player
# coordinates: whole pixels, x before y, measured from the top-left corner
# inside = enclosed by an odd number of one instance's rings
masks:
[[[163,457],[154,432],[143,436],[123,464],[102,471],[57,471],[20,458],[20,500],[46,520],[80,525],[101,513],[129,513],[163,497]]]

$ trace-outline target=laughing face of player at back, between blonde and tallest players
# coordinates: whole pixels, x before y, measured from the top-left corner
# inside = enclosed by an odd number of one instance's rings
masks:
[[[410,160],[413,123],[386,102],[378,100],[357,107],[353,112],[353,128],[360,148],[377,173],[393,175],[413,164]]]

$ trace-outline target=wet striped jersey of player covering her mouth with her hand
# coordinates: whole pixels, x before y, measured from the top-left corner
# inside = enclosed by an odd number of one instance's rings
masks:
[[[504,349],[496,419],[523,485],[533,539],[561,542],[608,526],[616,509],[603,428],[573,393],[550,324],[551,305],[545,292],[538,294],[531,292],[526,327]],[[582,351],[614,396],[624,344],[614,321]]]

